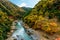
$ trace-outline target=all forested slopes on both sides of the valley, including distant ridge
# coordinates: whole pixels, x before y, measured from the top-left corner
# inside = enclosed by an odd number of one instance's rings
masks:
[[[7,38],[15,20],[49,34],[60,32],[60,0],[41,0],[34,8],[18,7],[8,0],[0,0],[0,40]]]

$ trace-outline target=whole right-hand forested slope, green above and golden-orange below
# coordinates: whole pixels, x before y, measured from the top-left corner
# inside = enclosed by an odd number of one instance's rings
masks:
[[[24,21],[33,29],[51,34],[60,31],[60,0],[41,0]]]

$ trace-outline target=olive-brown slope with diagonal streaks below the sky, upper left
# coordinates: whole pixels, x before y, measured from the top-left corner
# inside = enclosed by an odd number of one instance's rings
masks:
[[[0,9],[2,9],[2,11],[7,11],[6,13],[9,16],[19,16],[20,17],[24,14],[24,10],[16,5],[14,5],[13,3],[9,2],[9,1],[0,1]]]

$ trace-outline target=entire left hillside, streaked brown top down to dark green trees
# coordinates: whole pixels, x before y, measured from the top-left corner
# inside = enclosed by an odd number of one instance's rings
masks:
[[[0,0],[0,40],[7,38],[12,22],[21,19],[25,11],[8,0]]]

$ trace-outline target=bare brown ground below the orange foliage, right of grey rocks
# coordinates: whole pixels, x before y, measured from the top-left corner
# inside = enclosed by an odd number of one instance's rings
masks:
[[[26,29],[29,29],[29,26],[27,24],[24,24],[24,27]],[[60,32],[54,33],[54,34],[48,34],[42,30],[34,30],[35,33],[40,37],[39,40],[55,40],[56,38],[60,37]]]

